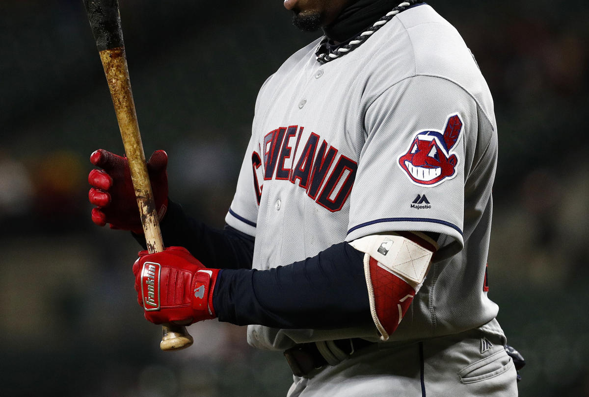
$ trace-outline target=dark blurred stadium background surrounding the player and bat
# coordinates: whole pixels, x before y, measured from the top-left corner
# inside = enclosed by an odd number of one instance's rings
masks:
[[[166,149],[171,198],[221,226],[257,90],[318,35],[278,0],[120,2],[145,152]],[[528,361],[521,395],[589,395],[589,8],[430,4],[495,99],[489,296]],[[136,303],[137,243],[91,223],[88,158],[123,148],[82,2],[3,0],[0,44],[0,395],[285,395],[282,355],[243,327],[199,323],[192,348],[161,352]]]

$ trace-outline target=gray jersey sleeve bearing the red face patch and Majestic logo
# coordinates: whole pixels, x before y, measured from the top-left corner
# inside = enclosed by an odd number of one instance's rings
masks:
[[[424,231],[464,245],[466,151],[477,124],[477,103],[454,82],[414,76],[386,89],[366,111],[346,240]]]

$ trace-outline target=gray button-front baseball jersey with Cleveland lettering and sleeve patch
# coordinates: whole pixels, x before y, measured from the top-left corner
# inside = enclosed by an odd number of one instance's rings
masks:
[[[253,267],[374,233],[439,233],[435,263],[389,341],[478,327],[502,337],[485,288],[495,117],[461,36],[422,5],[336,61],[319,64],[318,44],[287,59],[256,102],[226,216],[256,237]],[[248,329],[250,344],[280,350],[353,336],[378,341],[375,328]]]

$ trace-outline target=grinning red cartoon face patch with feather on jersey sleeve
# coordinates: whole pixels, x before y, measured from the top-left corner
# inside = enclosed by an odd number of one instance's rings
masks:
[[[462,131],[459,115],[449,116],[444,134],[436,130],[424,130],[415,134],[406,154],[399,156],[398,165],[420,186],[435,186],[456,176],[458,156],[452,148]]]

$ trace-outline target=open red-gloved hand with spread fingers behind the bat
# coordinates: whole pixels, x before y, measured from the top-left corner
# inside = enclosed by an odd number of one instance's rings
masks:
[[[111,229],[143,233],[127,158],[99,149],[92,153],[90,162],[102,168],[92,169],[88,175],[88,182],[92,186],[88,199],[96,206],[92,209],[92,222],[99,226],[110,223]],[[147,162],[160,221],[168,206],[167,165],[168,155],[163,150],[153,152]]]

